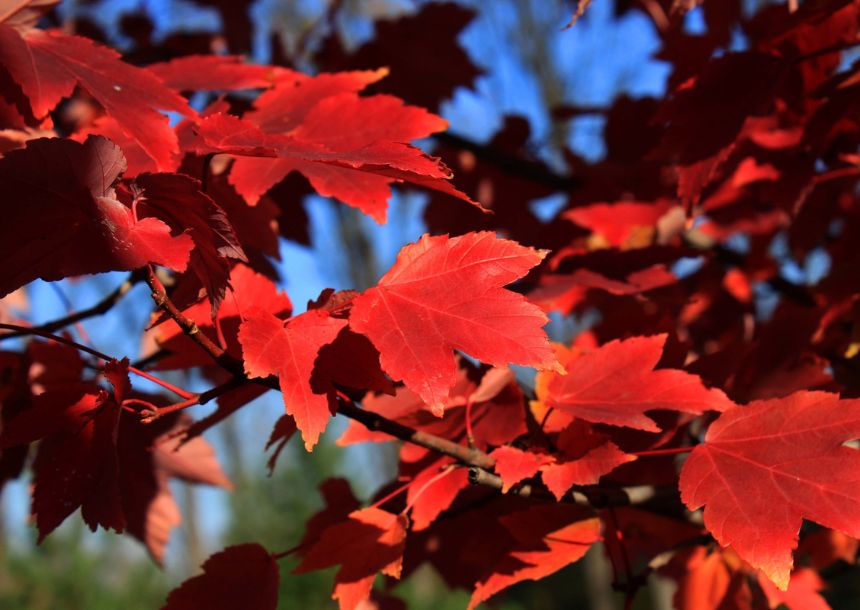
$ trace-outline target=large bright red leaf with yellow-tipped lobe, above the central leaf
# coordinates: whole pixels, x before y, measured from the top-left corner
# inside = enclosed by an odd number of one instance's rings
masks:
[[[445,129],[443,119],[392,96],[357,95],[385,74],[292,73],[260,95],[243,119],[204,118],[195,127],[195,150],[251,155],[236,159],[229,180],[252,205],[292,171],[304,174],[321,195],[336,197],[380,223],[389,185],[396,181],[470,201],[450,185],[444,165],[406,144]]]

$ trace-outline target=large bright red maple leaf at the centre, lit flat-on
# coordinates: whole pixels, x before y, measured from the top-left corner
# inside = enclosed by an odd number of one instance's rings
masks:
[[[349,324],[389,375],[441,413],[456,383],[454,349],[496,366],[557,366],[541,330],[547,318],[502,288],[544,255],[491,233],[425,235],[353,301]]]

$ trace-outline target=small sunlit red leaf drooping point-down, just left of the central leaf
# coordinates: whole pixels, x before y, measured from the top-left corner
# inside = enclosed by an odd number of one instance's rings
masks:
[[[287,413],[296,420],[305,448],[311,451],[328,425],[333,409],[325,392],[311,387],[320,349],[335,340],[346,320],[314,309],[284,322],[262,309],[252,309],[239,328],[239,342],[249,377],[278,375]]]

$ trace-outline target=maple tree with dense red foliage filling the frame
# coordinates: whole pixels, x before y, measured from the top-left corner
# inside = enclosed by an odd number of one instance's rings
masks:
[[[340,417],[339,445],[399,443],[397,475],[364,500],[321,481],[301,540],[214,554],[168,610],[275,608],[285,557],[337,566],[342,610],[398,607],[425,565],[473,608],[589,552],[626,608],[659,576],[679,610],[818,610],[834,565],[856,577],[860,2],[616,2],[654,22],[669,90],[601,109],[606,154],[565,149],[567,173],[520,119],[485,144],[444,133],[441,102],[480,74],[458,5],[304,48],[311,75],[245,60],[247,2],[209,2],[221,52],[125,55],[51,27],[56,4],[0,0],[0,341],[21,340],[0,352],[0,485],[29,464],[40,542],[80,510],[162,563],[169,481],[229,489],[203,434],[275,390],[270,469]],[[428,28],[452,67],[419,78],[394,55]],[[399,189],[429,197],[429,233],[375,285],[295,311],[272,260],[307,235],[301,196],[384,223]],[[789,271],[812,255],[818,277]],[[128,278],[91,308],[15,306],[108,271]],[[69,332],[142,283],[141,361]],[[550,314],[593,321],[551,341]],[[164,378],[191,370],[207,390]]]

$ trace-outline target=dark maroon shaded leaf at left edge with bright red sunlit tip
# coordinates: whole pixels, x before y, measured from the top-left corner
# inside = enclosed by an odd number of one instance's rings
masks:
[[[116,199],[125,169],[119,148],[93,136],[84,144],[39,139],[0,159],[0,296],[36,278],[131,270],[148,263],[184,271],[194,247],[157,218],[137,219]]]

